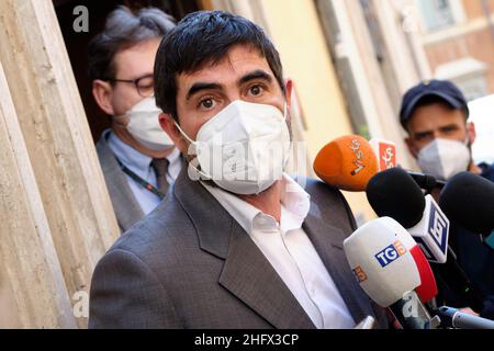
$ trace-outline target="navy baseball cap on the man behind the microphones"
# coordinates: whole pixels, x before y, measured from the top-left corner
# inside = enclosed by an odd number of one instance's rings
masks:
[[[400,122],[405,129],[415,109],[424,99],[431,97],[444,100],[456,110],[463,110],[465,112],[465,117],[468,118],[470,114],[468,102],[460,89],[449,80],[429,80],[412,88],[403,97]]]

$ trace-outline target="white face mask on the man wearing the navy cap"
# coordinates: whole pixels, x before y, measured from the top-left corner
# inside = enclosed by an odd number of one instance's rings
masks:
[[[468,170],[471,157],[467,143],[437,138],[420,152],[417,162],[424,173],[447,181]]]

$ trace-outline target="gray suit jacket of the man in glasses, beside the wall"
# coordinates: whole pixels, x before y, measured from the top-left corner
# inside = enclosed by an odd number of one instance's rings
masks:
[[[116,215],[116,222],[123,233],[141,220],[144,213],[104,137],[101,137],[98,141],[97,152]]]

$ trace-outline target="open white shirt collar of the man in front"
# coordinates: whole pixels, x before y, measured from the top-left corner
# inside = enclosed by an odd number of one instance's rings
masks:
[[[282,233],[287,233],[302,227],[311,207],[311,196],[290,176],[283,174],[282,182],[280,228]],[[274,218],[266,215],[238,196],[218,186],[213,186],[205,182],[201,183],[249,235],[258,226],[266,227],[269,222],[276,224]],[[272,220],[269,220],[269,218]]]

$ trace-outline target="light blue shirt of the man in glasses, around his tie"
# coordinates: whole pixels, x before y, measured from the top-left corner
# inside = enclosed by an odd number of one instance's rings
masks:
[[[136,173],[153,186],[158,188],[156,172],[151,166],[153,158],[141,154],[130,145],[125,144],[110,129],[103,133],[103,137],[106,138],[108,146],[112,150],[113,155],[126,168],[128,168],[131,171]],[[168,184],[172,184],[182,168],[180,151],[175,148],[173,151],[168,155],[167,159],[169,161],[167,181]],[[127,183],[131,188],[132,193],[134,194],[145,215],[155,210],[155,207],[161,203],[161,200],[157,195],[143,188],[128,174],[125,174],[125,177],[127,179]]]

